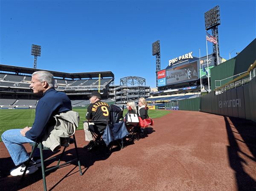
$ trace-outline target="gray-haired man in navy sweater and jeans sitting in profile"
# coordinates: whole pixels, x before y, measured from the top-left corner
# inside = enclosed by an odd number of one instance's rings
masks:
[[[22,175],[25,170],[24,163],[29,159],[29,154],[24,148],[23,143],[35,143],[37,138],[44,135],[48,125],[55,125],[56,121],[53,118],[55,114],[72,110],[70,99],[66,94],[54,89],[54,82],[55,80],[50,72],[34,72],[29,87],[33,90],[33,93],[42,94],[43,97],[36,106],[35,121],[32,127],[10,129],[2,134],[3,143],[6,145],[14,164],[17,166],[17,168],[12,169],[12,176]],[[39,155],[34,155],[34,160],[35,157],[40,158]],[[32,160],[32,163],[35,162],[34,160]],[[30,166],[26,174],[34,173],[38,170],[38,166]]]

